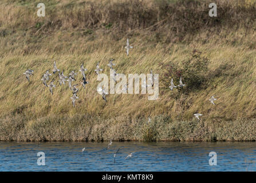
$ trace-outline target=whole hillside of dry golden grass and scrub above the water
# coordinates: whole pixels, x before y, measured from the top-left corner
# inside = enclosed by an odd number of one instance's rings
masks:
[[[39,2],[0,2],[0,140],[255,140],[254,1],[216,1],[218,17],[208,16],[210,1],[44,2],[45,17],[37,17]],[[193,50],[202,54],[194,57]],[[111,58],[127,77],[152,68],[159,99],[110,94],[105,104],[94,69],[100,62],[109,75]],[[57,74],[53,96],[40,80],[54,61],[65,75],[78,73],[75,83],[82,62],[88,69],[76,108]],[[23,75],[28,68],[30,82]],[[171,92],[177,72],[187,86]]]

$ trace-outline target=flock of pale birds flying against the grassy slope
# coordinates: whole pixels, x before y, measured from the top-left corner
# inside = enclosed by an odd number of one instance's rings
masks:
[[[127,55],[129,55],[129,49],[131,49],[131,48],[132,48],[132,46],[129,45],[129,39],[127,39],[127,45],[125,46]],[[112,78],[113,78],[113,80],[116,82],[115,76],[117,75],[117,73],[116,73],[116,70],[113,69],[113,66],[115,66],[115,63],[113,63],[114,60],[115,60],[115,59],[111,59],[111,60],[109,61],[109,63],[108,63],[108,66],[114,71]],[[52,81],[49,83],[49,85],[46,83],[47,81],[50,80],[50,76],[52,75],[51,73],[49,73],[49,71],[50,71],[50,69],[49,69],[49,70],[46,70],[45,74],[42,75],[41,80],[42,80],[42,82],[44,83],[44,85],[45,85],[46,87],[49,87],[50,93],[53,94],[53,88],[56,87],[56,85],[54,85],[55,79],[52,79]],[[73,82],[73,81],[76,81],[76,79],[75,79],[74,77],[77,75],[77,73],[75,73],[75,72],[72,70],[72,71],[69,73],[69,77],[67,77],[66,75],[64,75],[64,70],[60,71],[60,69],[57,68],[55,61],[54,61],[54,63],[53,63],[53,70],[52,70],[52,71],[53,71],[53,74],[58,73],[58,78],[59,78],[58,82],[60,83],[60,86],[62,85],[62,83],[63,83],[63,85],[65,85],[65,81],[69,83],[69,88],[70,88],[70,90],[72,91],[72,94],[73,94],[73,96],[70,97],[70,99],[72,100],[73,107],[75,107],[75,102],[76,102],[76,100],[78,100],[77,92],[78,92],[79,89],[77,88],[78,83],[72,86],[72,82]],[[85,85],[88,84],[89,82],[86,81],[85,71],[87,71],[87,69],[84,68],[84,63],[82,63],[82,65],[80,66],[80,70],[79,70],[79,71],[80,71],[81,74],[82,74],[82,82],[81,82],[81,85],[82,85],[82,87],[85,88]],[[96,69],[95,69],[94,71],[96,72],[97,75],[99,75],[100,71],[103,71],[103,69],[100,69],[99,62],[97,63]],[[29,77],[30,77],[30,75],[33,75],[33,72],[34,72],[34,71],[31,70],[31,69],[27,69],[27,70],[25,71],[25,73],[23,73],[23,74],[25,74],[25,76],[26,76],[26,78],[27,78],[28,81],[30,81]],[[152,73],[152,69],[151,69],[151,85],[152,85],[152,86],[153,86],[153,81],[154,81],[154,78],[153,78],[153,73]],[[141,84],[141,86],[146,88],[148,85],[147,85],[146,82],[144,81],[144,82]],[[174,90],[174,89],[177,88],[177,87],[183,87],[183,86],[186,86],[186,85],[183,84],[183,82],[182,82],[182,77],[180,77],[180,81],[179,81],[179,85],[178,85],[178,86],[175,86],[173,79],[171,79],[171,85],[170,85],[169,87],[170,87],[170,89],[171,89],[171,91],[172,91],[172,90]],[[127,90],[128,90],[128,84],[125,84],[125,85],[123,86],[123,90],[125,90],[125,91],[127,92]],[[99,92],[99,93],[101,94],[103,100],[104,100],[105,102],[107,102],[107,100],[106,100],[106,95],[107,95],[108,93],[105,91],[105,88],[104,88],[104,87],[99,87],[99,88],[97,89],[97,92]],[[214,96],[211,96],[211,98],[210,98],[209,101],[211,102],[211,104],[215,105],[215,104],[214,104],[214,101],[215,101],[215,100],[217,100],[217,99],[214,98]],[[200,120],[199,116],[203,116],[203,114],[196,113],[196,114],[194,114],[194,116],[195,116],[196,118],[198,118],[198,120]]]

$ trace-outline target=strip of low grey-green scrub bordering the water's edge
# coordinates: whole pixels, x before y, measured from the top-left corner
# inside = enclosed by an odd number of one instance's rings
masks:
[[[256,141],[256,119],[235,121],[172,121],[170,116],[125,116],[100,119],[86,115],[48,116],[26,120],[21,116],[0,119],[0,141],[103,142],[103,141]],[[103,122],[104,121],[104,122]]]

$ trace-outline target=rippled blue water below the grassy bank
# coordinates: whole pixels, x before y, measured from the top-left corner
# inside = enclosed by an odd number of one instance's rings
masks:
[[[108,142],[0,142],[0,171],[256,170],[256,142],[113,142],[111,148],[107,146]],[[38,152],[45,153],[45,166],[38,166]],[[131,152],[133,157],[125,160]],[[216,166],[209,165],[210,152],[217,154]]]

